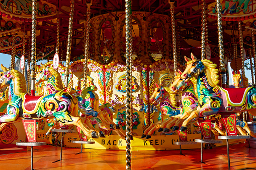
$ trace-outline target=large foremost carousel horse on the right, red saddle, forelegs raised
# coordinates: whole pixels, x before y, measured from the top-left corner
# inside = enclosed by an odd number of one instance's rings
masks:
[[[219,76],[217,65],[210,60],[197,60],[191,54],[192,60],[185,56],[187,67],[181,78],[188,82],[197,78],[198,109],[183,122],[181,131],[187,129],[188,123],[198,117],[217,114],[218,112],[236,113],[248,111],[256,115],[256,87],[248,88],[222,88],[218,86]],[[171,87],[172,88],[172,87]]]

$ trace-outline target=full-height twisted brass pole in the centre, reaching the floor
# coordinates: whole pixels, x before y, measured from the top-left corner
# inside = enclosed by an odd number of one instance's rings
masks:
[[[125,45],[126,45],[126,169],[131,169],[132,157],[131,157],[131,92],[130,92],[130,43],[132,40],[130,32],[130,10],[131,10],[131,0],[125,0]]]

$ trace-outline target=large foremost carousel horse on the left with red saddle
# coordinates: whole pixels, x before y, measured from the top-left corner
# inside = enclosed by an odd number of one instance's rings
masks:
[[[71,88],[45,96],[30,96],[26,90],[25,77],[21,72],[8,71],[3,65],[1,68],[4,74],[0,74],[0,89],[9,86],[9,104],[7,113],[0,116],[0,123],[2,123],[0,130],[6,124],[21,119],[46,119],[54,116],[58,122],[76,125],[84,134],[99,138],[99,132],[90,120],[79,117],[77,99],[71,95],[73,93]]]

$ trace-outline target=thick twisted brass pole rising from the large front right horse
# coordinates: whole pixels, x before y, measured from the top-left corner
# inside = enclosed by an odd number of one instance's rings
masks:
[[[224,45],[223,45],[223,33],[222,33],[222,21],[221,21],[221,4],[220,0],[216,0],[216,8],[217,8],[217,25],[218,25],[218,44],[219,44],[219,58],[220,58],[220,74],[221,74],[221,84],[225,82],[225,72],[226,67],[224,63]]]

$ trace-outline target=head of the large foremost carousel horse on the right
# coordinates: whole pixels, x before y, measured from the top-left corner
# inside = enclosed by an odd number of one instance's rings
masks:
[[[185,56],[186,69],[182,73],[181,78],[185,81],[188,81],[192,77],[196,77],[204,69],[204,64],[202,61],[197,60],[197,58],[191,53],[191,59]]]

